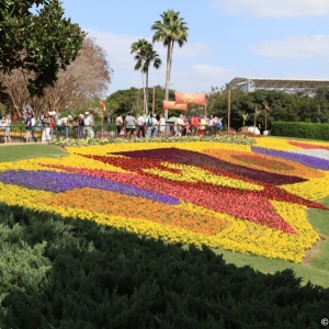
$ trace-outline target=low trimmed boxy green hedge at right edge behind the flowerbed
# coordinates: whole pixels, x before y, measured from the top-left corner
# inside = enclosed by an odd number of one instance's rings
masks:
[[[329,124],[274,122],[271,134],[273,136],[329,140]]]

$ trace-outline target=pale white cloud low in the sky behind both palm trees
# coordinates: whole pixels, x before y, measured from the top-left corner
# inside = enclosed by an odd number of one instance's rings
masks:
[[[114,69],[113,81],[110,87],[111,92],[118,89],[128,89],[131,87],[141,88],[140,72],[134,70],[134,56],[131,54],[131,45],[143,36],[127,35],[127,34],[114,34],[110,32],[103,32],[98,30],[87,30],[89,36],[94,37],[99,46],[104,48],[107,53],[110,66]],[[151,42],[151,37],[145,37]],[[160,84],[163,86],[166,81],[166,59],[167,48],[159,44],[155,44],[155,49],[159,53],[162,59],[162,66],[160,69],[150,69],[149,86]],[[173,67],[171,71],[172,88],[181,90],[186,86],[191,86],[191,89],[197,90],[197,88],[205,88],[205,83],[201,83],[201,78],[207,80],[205,77],[214,77],[218,68],[212,68],[209,66],[196,65],[188,68],[189,63],[195,58],[203,58],[211,55],[212,49],[209,46],[200,43],[188,43],[183,47],[175,45],[173,49]],[[178,77],[178,80],[175,80]],[[175,80],[175,81],[174,81]],[[190,81],[192,80],[192,81]],[[204,81],[204,82],[205,82]],[[216,80],[214,80],[214,83]],[[202,87],[201,87],[202,86]],[[207,89],[212,84],[207,83]],[[216,84],[217,86],[217,84]]]

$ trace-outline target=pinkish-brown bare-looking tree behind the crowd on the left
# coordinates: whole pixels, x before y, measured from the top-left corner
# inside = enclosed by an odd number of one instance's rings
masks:
[[[7,87],[9,106],[15,118],[21,117],[24,105],[30,104],[34,113],[58,111],[69,106],[71,110],[86,107],[86,100],[102,98],[111,82],[112,68],[106,53],[93,38],[84,38],[79,56],[66,70],[58,72],[54,87],[47,87],[43,97],[29,94],[23,73],[15,69],[11,75],[0,71],[0,81]]]

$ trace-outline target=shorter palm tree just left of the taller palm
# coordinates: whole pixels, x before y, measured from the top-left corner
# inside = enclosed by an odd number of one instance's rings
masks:
[[[131,54],[136,53],[135,60],[135,70],[140,70],[141,72],[141,82],[143,82],[143,90],[144,90],[144,103],[146,113],[148,112],[148,71],[151,63],[154,67],[158,69],[162,61],[159,57],[159,54],[154,50],[154,46],[147,42],[145,38],[138,39],[137,42],[132,44],[132,52]],[[146,83],[144,86],[144,77],[143,73],[146,76]]]

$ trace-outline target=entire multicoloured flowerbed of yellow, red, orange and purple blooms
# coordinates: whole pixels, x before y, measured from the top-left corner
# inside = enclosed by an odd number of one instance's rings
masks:
[[[328,144],[319,146],[329,152]],[[329,211],[317,202],[329,194],[329,172],[326,159],[296,149],[307,145],[269,137],[256,147],[208,140],[71,146],[69,157],[0,163],[0,202],[302,262],[319,240],[306,209]]]

